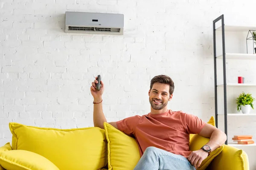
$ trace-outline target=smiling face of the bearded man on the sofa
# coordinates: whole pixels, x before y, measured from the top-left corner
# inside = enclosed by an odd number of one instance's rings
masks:
[[[154,110],[161,110],[166,107],[168,101],[172,99],[169,93],[169,85],[159,82],[154,83],[152,89],[148,91],[149,102]]]

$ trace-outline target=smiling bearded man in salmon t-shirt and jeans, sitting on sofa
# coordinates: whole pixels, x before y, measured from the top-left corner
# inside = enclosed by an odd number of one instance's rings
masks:
[[[94,98],[93,123],[103,127],[107,122],[102,110],[104,83],[96,90],[97,77],[90,87]],[[197,116],[182,111],[168,110],[172,99],[174,82],[166,75],[151,79],[148,91],[151,112],[143,116],[132,116],[117,122],[113,127],[128,135],[134,135],[140,150],[140,161],[134,170],[195,170],[209,153],[227,140],[221,130],[209,125]],[[200,150],[189,150],[189,134],[210,138]]]

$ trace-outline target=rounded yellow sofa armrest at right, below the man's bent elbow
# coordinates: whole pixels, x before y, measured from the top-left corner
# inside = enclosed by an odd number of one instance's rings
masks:
[[[248,156],[243,150],[224,144],[224,149],[207,170],[249,170]]]

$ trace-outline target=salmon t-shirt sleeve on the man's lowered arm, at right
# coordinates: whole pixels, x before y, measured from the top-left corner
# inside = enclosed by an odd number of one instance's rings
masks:
[[[201,132],[206,123],[202,119],[198,118],[198,116],[186,114],[185,125],[189,134],[198,134]]]

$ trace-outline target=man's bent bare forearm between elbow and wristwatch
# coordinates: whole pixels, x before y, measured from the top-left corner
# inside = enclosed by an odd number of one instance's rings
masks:
[[[213,151],[223,145],[226,140],[227,135],[224,132],[222,132],[221,130],[214,130],[212,132],[209,142],[206,145],[209,145]]]

